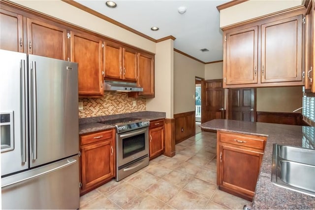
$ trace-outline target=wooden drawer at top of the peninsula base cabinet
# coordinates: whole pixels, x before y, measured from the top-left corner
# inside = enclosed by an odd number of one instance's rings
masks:
[[[264,149],[266,138],[263,137],[254,137],[247,135],[239,135],[232,133],[221,133],[220,132],[220,141],[226,143],[232,143],[241,146],[252,147],[256,149]]]

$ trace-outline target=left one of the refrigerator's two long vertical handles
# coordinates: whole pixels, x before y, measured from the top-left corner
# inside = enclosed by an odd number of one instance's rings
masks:
[[[26,70],[25,70],[25,60],[21,60],[20,63],[20,68],[21,68],[21,97],[22,97],[22,163],[26,162],[26,140],[28,136],[28,129],[27,127],[27,101],[26,101],[26,94],[27,94],[27,88],[26,88],[26,83],[27,83],[27,76],[26,76]]]

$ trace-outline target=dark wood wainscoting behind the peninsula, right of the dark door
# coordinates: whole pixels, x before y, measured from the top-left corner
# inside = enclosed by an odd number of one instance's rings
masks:
[[[257,111],[257,122],[305,125],[301,113]]]

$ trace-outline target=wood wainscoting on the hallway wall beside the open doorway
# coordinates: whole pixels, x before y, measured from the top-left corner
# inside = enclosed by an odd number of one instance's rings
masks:
[[[174,114],[175,143],[179,143],[195,135],[195,111]]]

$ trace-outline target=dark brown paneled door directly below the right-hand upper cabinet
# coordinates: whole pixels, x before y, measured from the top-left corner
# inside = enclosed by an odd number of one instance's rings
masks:
[[[228,90],[228,119],[256,121],[256,89],[233,88]]]

